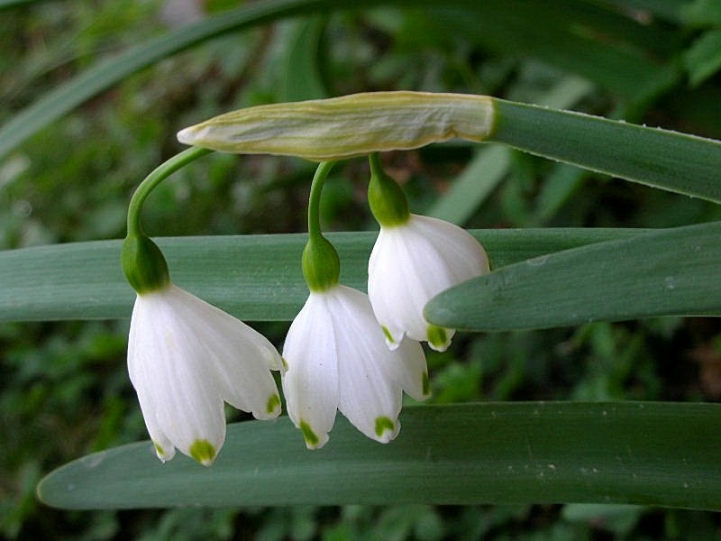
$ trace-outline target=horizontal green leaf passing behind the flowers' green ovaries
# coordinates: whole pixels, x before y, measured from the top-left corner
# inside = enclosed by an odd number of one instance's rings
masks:
[[[474,232],[494,267],[637,230],[525,229]],[[365,289],[374,233],[329,234],[341,280]],[[304,234],[157,239],[179,286],[246,320],[291,320],[306,301]],[[121,241],[0,252],[0,321],[129,317],[134,294],[120,270]]]

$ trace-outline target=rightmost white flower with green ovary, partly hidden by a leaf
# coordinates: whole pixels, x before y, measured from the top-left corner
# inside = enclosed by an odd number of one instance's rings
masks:
[[[406,335],[443,352],[455,331],[427,322],[424,307],[443,290],[488,272],[488,256],[461,227],[410,214],[378,155],[370,162],[369,204],[380,224],[368,265],[370,304],[391,349]]]

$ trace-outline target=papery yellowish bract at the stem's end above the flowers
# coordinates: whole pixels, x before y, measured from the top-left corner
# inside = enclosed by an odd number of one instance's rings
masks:
[[[489,96],[367,92],[247,107],[178,132],[214,151],[340,160],[452,138],[482,141],[493,126]]]

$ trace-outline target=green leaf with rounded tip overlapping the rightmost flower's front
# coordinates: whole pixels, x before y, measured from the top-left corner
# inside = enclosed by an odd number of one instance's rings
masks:
[[[721,222],[641,234],[519,262],[444,291],[440,326],[537,329],[649,316],[721,316]]]

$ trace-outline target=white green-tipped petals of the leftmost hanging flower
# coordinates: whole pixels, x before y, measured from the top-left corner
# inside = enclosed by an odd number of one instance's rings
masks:
[[[225,439],[224,401],[259,419],[278,417],[270,371],[280,366],[265,337],[171,283],[135,300],[128,371],[162,461],[178,447],[213,463]]]

